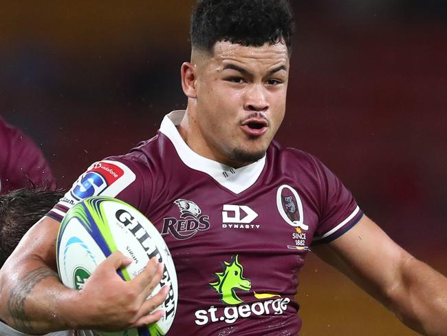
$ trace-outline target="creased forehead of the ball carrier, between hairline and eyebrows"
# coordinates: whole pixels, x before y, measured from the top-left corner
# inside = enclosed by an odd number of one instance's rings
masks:
[[[268,44],[259,47],[240,45],[228,41],[215,44],[212,62],[228,63],[230,61],[241,63],[261,63],[264,65],[287,65],[289,54],[284,43]]]

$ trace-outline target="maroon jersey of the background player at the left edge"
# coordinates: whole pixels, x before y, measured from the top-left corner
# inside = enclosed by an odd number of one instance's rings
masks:
[[[0,117],[0,193],[29,187],[54,189],[55,181],[39,147]]]

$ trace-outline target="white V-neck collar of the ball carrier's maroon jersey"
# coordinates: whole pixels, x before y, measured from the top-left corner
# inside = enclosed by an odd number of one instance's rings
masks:
[[[179,158],[184,164],[191,169],[208,174],[219,185],[229,189],[233,193],[241,193],[250,188],[257,181],[264,169],[265,156],[257,162],[253,162],[251,165],[237,169],[200,156],[186,145],[177,130],[176,125],[179,125],[180,121],[182,121],[184,114],[185,111],[173,111],[164,116],[162,125],[160,126],[160,132],[171,140]]]

